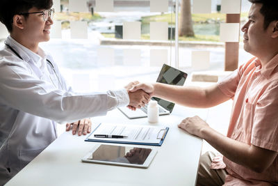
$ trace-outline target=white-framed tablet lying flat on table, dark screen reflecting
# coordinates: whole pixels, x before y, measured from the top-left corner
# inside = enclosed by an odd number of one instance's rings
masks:
[[[83,157],[82,162],[147,168],[156,153],[154,148],[98,144]]]

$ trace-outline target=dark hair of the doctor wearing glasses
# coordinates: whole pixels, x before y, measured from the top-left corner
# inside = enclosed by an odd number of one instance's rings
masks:
[[[35,7],[49,9],[53,5],[52,0],[0,0],[0,22],[5,24],[8,31],[13,31],[13,17],[19,13],[27,13]],[[24,15],[28,17],[28,15]]]

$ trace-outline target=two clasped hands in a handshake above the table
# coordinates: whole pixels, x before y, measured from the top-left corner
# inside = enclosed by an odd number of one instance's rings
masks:
[[[124,86],[129,93],[129,109],[136,110],[145,107],[154,95],[154,86],[152,84],[140,84],[139,82],[131,82]]]

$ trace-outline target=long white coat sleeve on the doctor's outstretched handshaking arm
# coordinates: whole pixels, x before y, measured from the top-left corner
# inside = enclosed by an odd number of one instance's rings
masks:
[[[108,110],[128,104],[125,90],[74,94],[38,79],[24,65],[1,62],[0,102],[58,123],[105,115]]]

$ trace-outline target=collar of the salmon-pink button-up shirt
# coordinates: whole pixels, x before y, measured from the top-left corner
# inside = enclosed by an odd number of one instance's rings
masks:
[[[261,61],[259,61],[259,59],[255,60],[255,65],[256,63],[260,63],[261,65]],[[262,66],[261,68],[261,75],[263,75],[265,78],[269,78],[273,72],[277,71],[277,66],[278,66],[278,54],[276,54],[270,61],[268,61],[268,63],[266,63],[265,65]]]

